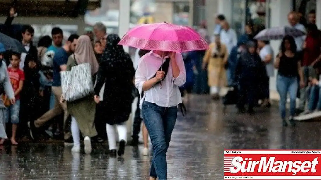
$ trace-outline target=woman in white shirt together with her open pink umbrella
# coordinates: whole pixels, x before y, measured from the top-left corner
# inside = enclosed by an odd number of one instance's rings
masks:
[[[206,50],[208,44],[192,28],[166,22],[137,26],[119,44],[152,50],[140,60],[135,85],[142,98],[140,108],[152,142],[150,179],[167,179],[166,153],[177,105],[182,102],[178,87],[186,82],[184,60],[179,52]]]

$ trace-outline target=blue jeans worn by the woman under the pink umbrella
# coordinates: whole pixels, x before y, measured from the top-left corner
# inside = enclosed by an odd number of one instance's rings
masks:
[[[177,118],[177,106],[160,107],[144,101],[142,114],[152,142],[150,176],[159,180],[167,179],[166,153]]]

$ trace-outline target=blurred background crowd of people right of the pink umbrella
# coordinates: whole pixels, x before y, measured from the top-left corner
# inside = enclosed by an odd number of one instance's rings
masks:
[[[187,82],[184,90],[198,94],[209,93],[220,99],[221,87],[237,90],[235,102],[239,113],[254,113],[254,107],[270,107],[270,78],[276,75],[282,124],[295,125],[293,117],[321,110],[319,96],[320,31],[316,26],[316,12],[310,11],[307,20],[297,12],[288,14],[290,27],[306,33],[301,37],[285,36],[279,50],[274,52],[269,41],[254,37],[265,27],[245,26],[245,34],[237,37],[224,15],[217,15],[213,35],[202,22],[199,33],[210,43],[207,51],[188,52],[185,55]],[[303,25],[304,24],[304,25]],[[191,63],[189,63],[191,61]],[[274,70],[277,69],[277,74]],[[188,74],[191,74],[188,76]],[[290,116],[286,118],[286,103],[290,94]],[[296,108],[299,98],[299,108]],[[307,105],[306,105],[307,104]]]

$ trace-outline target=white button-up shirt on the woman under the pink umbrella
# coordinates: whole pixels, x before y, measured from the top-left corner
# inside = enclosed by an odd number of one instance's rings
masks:
[[[152,79],[166,58],[168,56],[162,59],[158,54],[151,51],[140,59],[135,74],[135,86],[140,94],[142,94],[144,82]],[[161,86],[157,84],[151,89],[144,91],[144,96],[140,101],[140,108],[142,108],[144,100],[161,107],[173,107],[182,103],[182,97],[178,89],[179,86],[184,85],[186,82],[186,71],[182,54],[176,53],[175,60],[180,71],[178,77],[176,79],[173,77],[172,60],[170,60],[167,75],[161,82]]]

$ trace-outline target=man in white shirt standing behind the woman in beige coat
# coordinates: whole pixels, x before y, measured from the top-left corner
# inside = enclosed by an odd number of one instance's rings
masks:
[[[221,22],[221,43],[226,45],[226,48],[228,50],[228,53],[232,51],[233,47],[237,45],[237,37],[236,37],[236,32],[234,29],[230,28],[230,25],[226,21]]]

